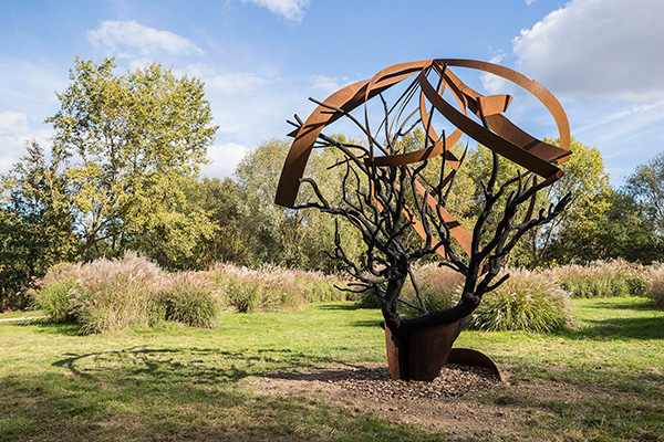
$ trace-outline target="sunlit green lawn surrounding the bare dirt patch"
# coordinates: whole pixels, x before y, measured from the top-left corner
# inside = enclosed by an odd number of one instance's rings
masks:
[[[573,313],[574,332],[464,332],[457,345],[491,356],[512,383],[601,388],[604,399],[542,399],[504,386],[483,400],[542,411],[523,440],[664,441],[664,312],[642,298],[609,298],[577,299]],[[168,324],[123,335],[0,322],[0,441],[446,440],[239,386],[250,375],[382,361],[380,319],[334,303],[225,314],[212,329]]]

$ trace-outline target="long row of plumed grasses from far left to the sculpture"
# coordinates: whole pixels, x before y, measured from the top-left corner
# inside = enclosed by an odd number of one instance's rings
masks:
[[[220,306],[249,313],[347,299],[335,285],[345,281],[270,265],[251,270],[217,263],[206,272],[167,274],[126,252],[122,259],[52,267],[32,299],[51,322],[77,323],[82,333],[92,334],[149,327],[164,319],[210,327]]]

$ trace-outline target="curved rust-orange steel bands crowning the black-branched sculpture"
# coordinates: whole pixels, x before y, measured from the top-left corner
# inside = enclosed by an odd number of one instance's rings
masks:
[[[553,116],[558,126],[560,146],[553,146],[532,137],[501,115],[511,102],[510,96],[484,96],[464,84],[448,70],[449,66],[488,72],[530,92]],[[439,76],[439,91],[428,81],[427,75],[432,70]],[[370,157],[366,158],[369,164],[374,167],[401,166],[444,155],[445,161],[453,169],[457,169],[459,160],[448,148],[454,146],[463,134],[466,134],[498,155],[542,177],[548,183],[552,183],[563,176],[563,171],[558,168],[557,164],[568,160],[571,154],[570,128],[562,106],[549,91],[536,81],[494,63],[476,60],[436,59],[396,64],[378,72],[370,80],[351,84],[330,95],[322,105],[313,110],[299,129],[289,134],[294,137],[294,140],[281,171],[274,202],[288,208],[294,207],[300,179],[304,172],[311,149],[325,126],[342,117],[344,113],[350,113],[360,105],[366,104],[374,96],[412,76],[415,76],[414,87],[419,88],[419,117],[432,146],[405,154],[374,157],[373,140],[370,137]],[[459,104],[460,112],[443,97],[443,93],[447,87]],[[445,139],[439,139],[428,124],[429,110],[427,105],[432,106],[433,109],[437,110],[456,127],[456,130]],[[331,110],[333,108],[340,110]],[[480,118],[483,125],[469,118],[468,112]],[[367,131],[370,131],[366,107],[365,124]],[[424,194],[423,190],[421,193]],[[427,194],[427,199],[429,199],[427,200],[429,204],[436,204],[436,200],[430,194]],[[453,235],[468,253],[470,248],[469,232],[449,213],[444,211],[443,215]],[[415,223],[415,228],[417,228],[417,223]]]

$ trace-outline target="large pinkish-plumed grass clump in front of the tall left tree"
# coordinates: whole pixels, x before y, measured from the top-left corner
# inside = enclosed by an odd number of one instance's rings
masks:
[[[73,322],[83,334],[151,327],[163,319],[207,327],[217,313],[207,276],[166,275],[134,252],[121,259],[53,267],[33,294],[53,323]]]

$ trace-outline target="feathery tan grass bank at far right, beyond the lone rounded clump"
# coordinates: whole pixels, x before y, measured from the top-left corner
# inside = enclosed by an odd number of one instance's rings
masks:
[[[645,296],[647,272],[624,260],[566,265],[549,272],[572,297]]]

